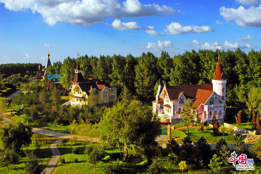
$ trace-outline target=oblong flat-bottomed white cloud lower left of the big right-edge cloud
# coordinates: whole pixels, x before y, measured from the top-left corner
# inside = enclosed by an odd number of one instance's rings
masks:
[[[209,25],[189,25],[182,26],[180,23],[172,22],[170,25],[166,25],[165,32],[168,34],[185,34],[185,33],[204,33],[212,32],[213,29]]]

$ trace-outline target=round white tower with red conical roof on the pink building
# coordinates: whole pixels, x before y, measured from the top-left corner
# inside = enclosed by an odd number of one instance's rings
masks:
[[[212,79],[213,91],[215,91],[218,96],[224,102],[224,118],[226,118],[226,78],[223,74],[222,67],[220,64],[220,59],[218,56],[218,62],[216,66],[216,70]]]

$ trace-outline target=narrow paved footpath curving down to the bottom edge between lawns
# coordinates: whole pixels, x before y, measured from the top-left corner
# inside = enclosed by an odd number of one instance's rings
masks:
[[[60,158],[60,151],[57,149],[57,145],[61,142],[61,140],[57,140],[55,143],[50,145],[50,149],[52,151],[52,159],[45,167],[44,171],[45,174],[52,173],[53,169],[55,168],[59,158]],[[42,173],[44,173],[44,171]]]

